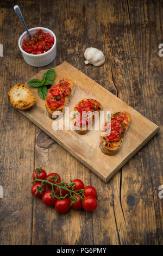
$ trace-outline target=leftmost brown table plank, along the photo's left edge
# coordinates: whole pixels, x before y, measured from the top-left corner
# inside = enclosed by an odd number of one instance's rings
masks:
[[[29,3],[21,3],[23,13]],[[30,3],[31,8],[37,7]],[[14,4],[1,2],[1,44],[3,56],[1,62],[1,185],[4,198],[0,199],[1,232],[3,245],[29,245],[32,242],[33,198],[30,195],[29,170],[34,168],[35,125],[12,108],[8,101],[8,90],[18,82],[26,82],[37,70],[23,61],[17,40],[24,31],[22,23],[15,15]],[[38,17],[30,21],[38,22]],[[14,26],[13,26],[14,24]]]

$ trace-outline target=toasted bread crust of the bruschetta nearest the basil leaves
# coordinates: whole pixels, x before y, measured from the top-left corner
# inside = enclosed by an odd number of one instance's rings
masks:
[[[68,83],[70,83],[69,87],[71,88],[71,95],[73,96],[74,91],[76,89],[76,86],[74,85],[74,82],[72,80],[67,79],[67,81],[68,81]],[[49,108],[48,103],[47,103],[47,97],[46,97],[46,99],[45,99],[45,106],[46,106],[49,118],[55,120],[55,119],[57,119],[60,116],[60,114],[59,114],[60,112],[62,114],[64,114],[65,107],[68,106],[70,100],[72,99],[72,96],[71,97],[65,96],[65,104],[60,106],[60,107],[58,107],[58,108],[56,108],[55,111],[52,110],[51,108]]]

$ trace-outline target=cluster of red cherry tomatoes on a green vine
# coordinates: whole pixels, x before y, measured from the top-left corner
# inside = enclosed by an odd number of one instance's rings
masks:
[[[33,186],[31,192],[34,197],[41,198],[42,202],[47,206],[55,205],[55,209],[64,214],[72,206],[73,209],[81,209],[86,211],[94,211],[97,208],[97,191],[93,186],[84,187],[82,180],[75,179],[70,184],[60,182],[58,173],[50,173],[41,167],[33,171]],[[39,180],[39,181],[37,181]],[[49,184],[48,182],[51,182]],[[48,185],[48,191],[46,186]],[[64,198],[65,197],[65,198]]]

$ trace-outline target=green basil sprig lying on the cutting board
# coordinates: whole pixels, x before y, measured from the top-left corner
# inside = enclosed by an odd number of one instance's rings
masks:
[[[42,80],[39,80],[37,78],[33,78],[32,80],[28,81],[27,83],[30,86],[38,87],[38,94],[41,97],[42,100],[46,99],[48,89],[46,86],[49,84],[54,84],[54,78],[55,78],[55,70],[49,69],[43,73]]]

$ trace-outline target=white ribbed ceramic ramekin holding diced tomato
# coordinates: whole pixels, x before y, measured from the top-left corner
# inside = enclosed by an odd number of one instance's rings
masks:
[[[30,28],[29,29],[30,34],[34,35],[36,33],[37,29],[42,29],[43,32],[49,33],[54,36],[54,45],[52,46],[52,48],[49,51],[42,53],[42,54],[30,54],[30,53],[23,51],[23,49],[21,47],[22,43],[23,43],[23,39],[27,39],[27,38],[29,39],[27,32],[24,32],[20,36],[20,39],[18,40],[18,47],[20,48],[22,56],[23,56],[25,62],[27,62],[27,64],[29,64],[30,66],[37,66],[37,67],[38,66],[46,66],[55,59],[55,56],[57,53],[57,39],[56,39],[55,34],[48,28],[42,28],[42,27]]]

